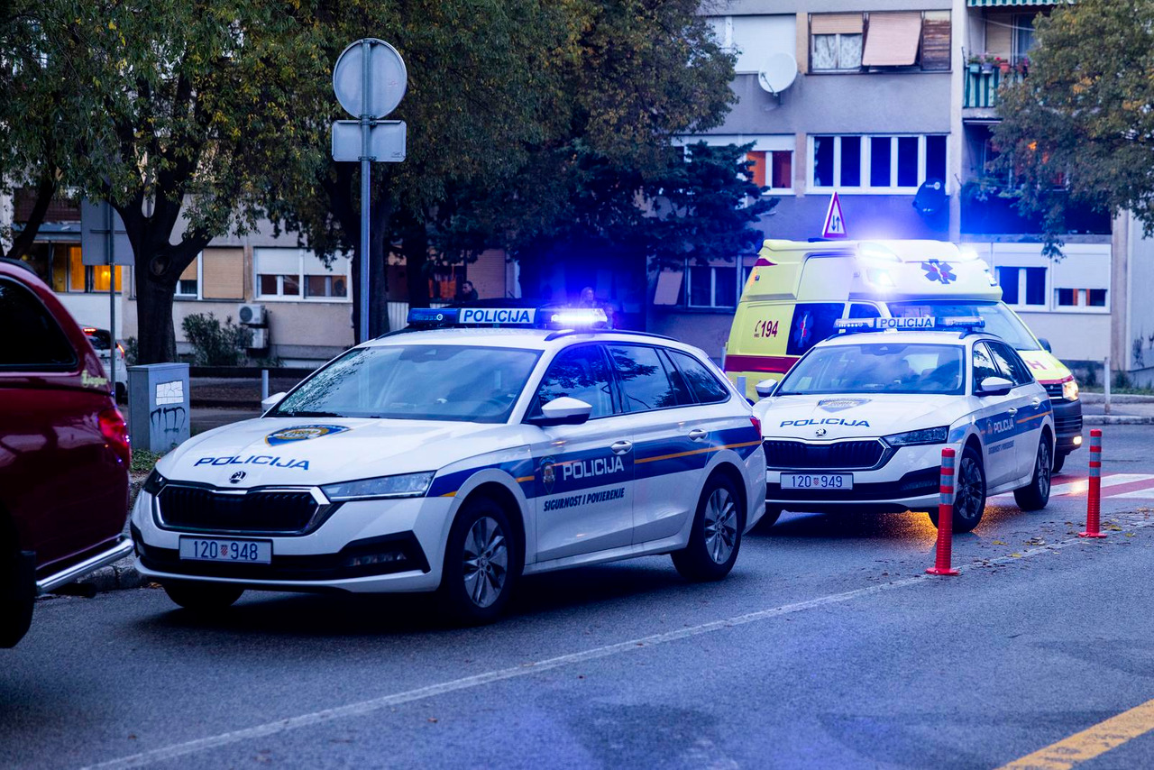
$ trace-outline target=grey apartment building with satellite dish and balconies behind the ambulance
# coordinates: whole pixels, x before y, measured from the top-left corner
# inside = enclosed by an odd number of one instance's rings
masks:
[[[1033,20],[1052,0],[729,0],[703,5],[737,55],[739,104],[726,122],[682,142],[754,143],[754,181],[780,199],[767,238],[820,234],[834,190],[852,238],[966,242],[1005,301],[1061,358],[1154,379],[1154,251],[1131,217],[1081,214],[1064,259],[1042,256],[1040,223],[1017,215],[989,179],[998,89],[1029,76]],[[788,54],[793,83],[763,88]],[[917,205],[915,207],[915,201]],[[752,254],[687,261],[651,281],[649,328],[720,357]],[[1136,296],[1137,294],[1137,296]],[[1137,299],[1137,301],[1136,301]],[[1144,369],[1149,369],[1144,372]]]

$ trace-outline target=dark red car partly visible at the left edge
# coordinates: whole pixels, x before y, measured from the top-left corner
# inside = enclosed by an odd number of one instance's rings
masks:
[[[0,260],[0,646],[32,601],[132,553],[130,451],[107,373],[48,286]]]

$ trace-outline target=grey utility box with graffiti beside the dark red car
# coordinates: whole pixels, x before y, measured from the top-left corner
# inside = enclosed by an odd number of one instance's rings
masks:
[[[128,428],[133,447],[165,453],[188,440],[188,364],[128,367]]]

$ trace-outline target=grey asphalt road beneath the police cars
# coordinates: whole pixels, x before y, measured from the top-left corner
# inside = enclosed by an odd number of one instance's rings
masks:
[[[475,629],[420,596],[53,598],[0,651],[0,765],[998,767],[1154,698],[1152,436],[1107,428],[1106,540],[1077,491],[995,500],[953,578],[924,515],[787,515],[722,583],[542,575]],[[1154,767],[1154,732],[1086,767]]]

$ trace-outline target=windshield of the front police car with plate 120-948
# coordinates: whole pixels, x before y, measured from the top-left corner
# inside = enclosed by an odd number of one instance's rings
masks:
[[[504,423],[539,357],[473,345],[358,347],[301,383],[268,417]]]

